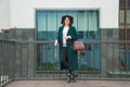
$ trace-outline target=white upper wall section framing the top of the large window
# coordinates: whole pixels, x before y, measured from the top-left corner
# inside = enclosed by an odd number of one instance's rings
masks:
[[[100,28],[118,28],[119,0],[11,0],[11,27],[35,28],[36,9],[99,9]]]

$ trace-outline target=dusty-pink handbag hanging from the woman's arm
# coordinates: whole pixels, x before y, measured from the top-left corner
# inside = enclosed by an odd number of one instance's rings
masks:
[[[73,46],[74,51],[78,51],[78,50],[84,50],[84,45],[82,41],[74,41],[74,46]]]

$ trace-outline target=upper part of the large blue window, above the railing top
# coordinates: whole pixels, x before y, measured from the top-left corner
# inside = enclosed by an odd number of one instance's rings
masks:
[[[74,26],[80,39],[99,38],[99,11],[36,11],[38,40],[53,40],[61,26],[61,17],[65,14],[74,16]],[[96,37],[95,37],[96,36]]]

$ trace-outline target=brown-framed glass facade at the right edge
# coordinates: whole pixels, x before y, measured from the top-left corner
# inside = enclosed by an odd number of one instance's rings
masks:
[[[119,0],[119,39],[130,40],[130,0]],[[121,64],[130,70],[130,45],[121,45]]]

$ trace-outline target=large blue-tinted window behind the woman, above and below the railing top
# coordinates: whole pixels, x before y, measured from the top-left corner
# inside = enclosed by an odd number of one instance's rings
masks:
[[[74,17],[73,26],[76,27],[80,40],[100,40],[99,29],[99,11],[98,10],[37,10],[36,11],[36,39],[54,41],[57,36],[58,27],[62,26],[61,18],[63,15]],[[78,53],[79,70],[96,69],[100,70],[100,46],[87,45],[88,50]],[[94,51],[94,55],[93,55]],[[37,66],[39,64],[49,64],[47,70],[58,70],[58,50],[53,46],[37,46]],[[46,59],[46,57],[50,59]],[[53,58],[53,60],[52,60]],[[88,61],[84,61],[88,60]],[[93,66],[93,60],[98,61]],[[53,62],[53,65],[51,64]],[[51,66],[52,65],[52,66]],[[86,65],[86,66],[84,66]],[[83,66],[83,67],[82,67]],[[46,69],[38,69],[43,71]]]

